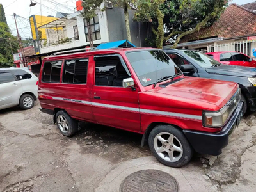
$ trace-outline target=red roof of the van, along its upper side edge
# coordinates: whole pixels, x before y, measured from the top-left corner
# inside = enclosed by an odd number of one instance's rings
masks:
[[[68,53],[68,54],[60,54],[60,55],[52,55],[47,56],[44,58],[45,60],[63,60],[65,58],[76,58],[77,56],[90,56],[90,55],[99,55],[99,54],[113,54],[113,53],[121,53],[121,52],[127,52],[127,51],[142,51],[142,50],[150,50],[150,49],[156,49],[156,48],[150,48],[150,47],[132,47],[132,48],[113,48],[113,49],[99,49],[99,50],[93,50],[93,51],[84,51],[84,52],[75,52],[75,53]]]

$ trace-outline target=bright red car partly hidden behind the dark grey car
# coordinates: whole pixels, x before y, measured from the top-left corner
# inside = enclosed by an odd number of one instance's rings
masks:
[[[208,52],[206,54],[222,64],[239,65],[244,67],[256,67],[256,61],[241,52],[220,51]]]

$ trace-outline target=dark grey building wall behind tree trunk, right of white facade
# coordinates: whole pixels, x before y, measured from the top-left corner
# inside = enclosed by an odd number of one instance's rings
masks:
[[[108,18],[109,42],[127,39],[124,10],[114,6],[113,8],[107,8],[106,14]],[[134,10],[129,10],[132,44],[137,47],[143,47],[145,45],[145,38],[147,38],[147,27],[145,23],[140,23],[139,30],[139,23],[132,20],[133,15]]]

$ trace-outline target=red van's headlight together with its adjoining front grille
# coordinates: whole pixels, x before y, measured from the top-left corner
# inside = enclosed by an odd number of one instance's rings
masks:
[[[256,83],[255,83],[256,84]],[[234,109],[241,99],[241,91],[238,88],[234,97],[228,101],[228,103],[220,109],[220,111],[203,111],[203,125],[204,127],[222,127],[226,121],[232,115]]]

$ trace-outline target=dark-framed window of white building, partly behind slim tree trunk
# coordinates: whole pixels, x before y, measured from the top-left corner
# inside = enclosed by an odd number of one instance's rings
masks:
[[[86,42],[89,42],[89,34],[88,34],[88,27],[92,31],[92,40],[99,40],[100,37],[100,24],[99,24],[99,17],[93,17],[90,19],[90,26],[87,24],[87,20],[84,19],[84,29],[85,29],[85,35],[86,35]]]

